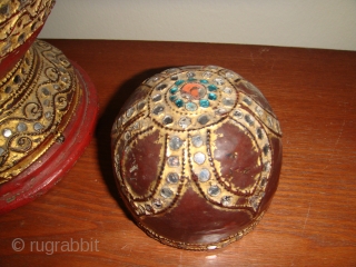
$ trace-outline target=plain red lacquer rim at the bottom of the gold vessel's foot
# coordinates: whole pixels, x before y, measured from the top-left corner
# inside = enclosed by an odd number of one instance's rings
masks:
[[[0,186],[0,214],[23,206],[47,192],[76,164],[93,134],[98,100],[88,75],[71,62],[82,85],[78,108],[63,131],[62,144],[55,144],[18,177]]]

